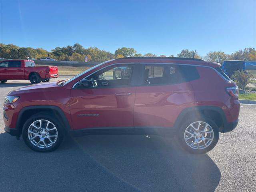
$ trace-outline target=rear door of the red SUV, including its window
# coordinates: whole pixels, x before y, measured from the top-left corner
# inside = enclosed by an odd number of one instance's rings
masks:
[[[189,72],[194,73],[194,68],[175,64],[145,64],[143,70],[143,78],[136,89],[135,128],[174,126],[181,110],[194,101],[192,86],[186,80]]]

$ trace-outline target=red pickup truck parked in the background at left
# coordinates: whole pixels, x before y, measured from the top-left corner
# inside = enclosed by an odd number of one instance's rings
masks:
[[[48,82],[50,78],[57,78],[58,67],[36,66],[32,60],[4,60],[0,62],[0,82],[19,79],[30,80],[32,84]]]

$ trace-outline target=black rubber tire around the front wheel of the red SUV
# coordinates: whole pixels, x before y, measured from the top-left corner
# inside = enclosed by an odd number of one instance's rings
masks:
[[[54,141],[54,144],[52,144],[51,146],[48,146],[47,148],[40,148],[40,147],[35,146],[34,144],[32,144],[32,142],[30,142],[30,140],[28,138],[28,129],[30,128],[30,125],[33,122],[35,122],[36,120],[50,121],[52,124],[54,124],[54,126],[57,129],[58,137]],[[44,127],[45,125],[46,125],[46,123],[42,127]],[[39,131],[38,131],[38,133],[39,133]],[[24,142],[30,149],[37,151],[37,152],[51,152],[51,151],[56,150],[62,143],[64,136],[65,136],[65,130],[60,125],[60,123],[54,117],[52,117],[48,114],[45,114],[45,113],[38,113],[38,114],[31,116],[30,118],[28,118],[28,120],[26,120],[26,122],[24,123],[24,126],[22,128],[22,138],[23,138]],[[39,141],[40,137],[38,137],[37,139]],[[45,142],[48,142],[50,144],[48,139],[46,139]],[[42,142],[41,142],[41,144],[42,144]],[[46,146],[46,145],[44,145],[44,146]]]

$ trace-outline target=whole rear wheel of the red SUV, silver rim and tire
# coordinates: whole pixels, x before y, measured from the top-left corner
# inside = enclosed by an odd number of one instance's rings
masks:
[[[219,140],[218,126],[207,117],[191,118],[184,122],[178,131],[178,140],[187,152],[207,153]]]

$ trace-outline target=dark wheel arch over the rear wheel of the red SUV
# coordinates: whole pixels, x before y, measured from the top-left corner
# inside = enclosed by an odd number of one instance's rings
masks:
[[[221,131],[223,125],[226,124],[226,116],[220,107],[194,106],[185,108],[184,110],[182,110],[182,112],[180,112],[177,120],[174,123],[174,128],[178,129],[182,125],[182,123],[184,123],[186,119],[188,119],[189,116],[206,116],[208,118],[211,118],[217,124],[219,131]]]

